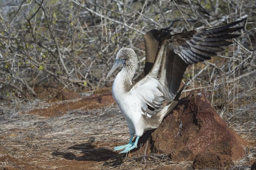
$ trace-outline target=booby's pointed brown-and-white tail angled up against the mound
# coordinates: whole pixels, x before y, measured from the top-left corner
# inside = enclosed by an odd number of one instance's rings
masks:
[[[181,95],[181,92],[185,88],[186,84],[183,85],[183,87],[177,92],[177,95],[175,98],[169,102],[163,109],[158,112],[157,114],[152,115],[150,118],[146,119],[147,121],[147,126],[145,130],[151,130],[157,128],[161,122],[163,121],[163,118],[169,114],[169,112],[172,111],[172,109],[177,105],[179,102],[179,98]]]

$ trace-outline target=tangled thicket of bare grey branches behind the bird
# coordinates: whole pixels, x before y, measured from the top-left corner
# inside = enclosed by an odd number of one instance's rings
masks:
[[[1,2],[0,97],[38,96],[37,86],[96,92],[112,82],[105,76],[116,52],[131,47],[139,69],[145,61],[143,34],[173,27],[173,33],[202,29],[247,16],[241,36],[226,50],[195,66],[183,81],[202,89],[222,118],[255,118],[256,4],[253,1],[23,0]],[[136,76],[137,76],[136,75]],[[195,78],[193,78],[195,76]],[[232,120],[236,122],[236,120]],[[238,121],[239,122],[239,121]],[[255,124],[255,122],[253,122]],[[238,130],[239,131],[239,130]],[[247,133],[255,133],[255,128]]]

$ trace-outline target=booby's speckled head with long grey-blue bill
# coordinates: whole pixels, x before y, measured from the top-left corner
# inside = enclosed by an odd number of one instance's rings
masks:
[[[116,54],[116,61],[114,62],[111,70],[109,71],[106,78],[108,78],[119,66],[124,65],[125,62],[130,58],[136,58],[137,55],[131,48],[122,48]]]

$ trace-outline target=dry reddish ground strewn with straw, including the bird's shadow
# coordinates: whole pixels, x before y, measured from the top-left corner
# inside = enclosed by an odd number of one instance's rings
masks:
[[[151,170],[161,165],[177,165],[192,169],[192,162],[175,162],[167,155],[126,157],[113,152],[113,147],[128,141],[128,127],[115,104],[97,104],[84,100],[29,104],[23,110],[9,103],[3,107],[0,127],[0,168],[3,170]],[[31,105],[31,104],[30,104]],[[91,107],[91,106],[95,107]],[[6,105],[7,106],[7,103]],[[17,104],[16,104],[17,106]],[[38,109],[38,107],[42,109]],[[64,107],[66,106],[66,107]],[[59,108],[62,108],[60,110]],[[21,108],[21,107],[19,107]],[[25,110],[26,108],[26,110]],[[64,109],[63,109],[64,108]],[[70,109],[72,108],[72,109]],[[55,112],[55,115],[49,114]],[[240,115],[237,115],[239,119]],[[233,118],[234,120],[236,118]],[[247,156],[235,161],[233,169],[250,169],[256,160],[255,112],[229,126],[250,142]],[[248,124],[249,121],[254,124]]]

